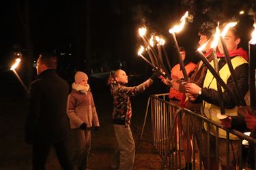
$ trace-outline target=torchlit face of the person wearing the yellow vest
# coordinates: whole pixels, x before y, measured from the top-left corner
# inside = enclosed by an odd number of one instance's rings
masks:
[[[227,31],[224,41],[227,46],[228,52],[236,50],[238,48],[238,44],[240,44],[240,38],[236,39],[235,35],[233,34],[233,31]],[[223,50],[223,46],[221,45],[221,41],[218,42],[218,50],[221,52],[221,54],[224,54],[224,50]]]

